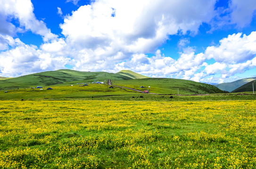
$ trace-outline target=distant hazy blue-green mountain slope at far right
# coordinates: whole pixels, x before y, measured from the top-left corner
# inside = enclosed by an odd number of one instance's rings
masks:
[[[240,80],[236,80],[236,81],[230,82],[230,83],[214,84],[214,86],[218,87],[219,89],[221,89],[223,91],[232,92],[233,90],[235,90],[235,89],[239,88],[240,86],[247,84],[248,82],[251,82],[253,80],[256,80],[256,77],[240,79]]]

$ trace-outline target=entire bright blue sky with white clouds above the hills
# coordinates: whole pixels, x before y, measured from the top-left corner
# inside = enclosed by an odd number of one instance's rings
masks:
[[[256,77],[255,0],[1,0],[0,76],[74,69]]]

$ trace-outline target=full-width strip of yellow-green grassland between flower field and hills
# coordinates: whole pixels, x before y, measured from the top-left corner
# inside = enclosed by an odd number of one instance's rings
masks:
[[[73,84],[73,86],[71,86]],[[146,94],[134,92],[122,87],[109,88],[105,84],[89,84],[88,86],[80,86],[83,84],[70,83],[70,85],[51,85],[43,87],[43,90],[32,88],[19,88],[8,90],[0,90],[0,100],[148,100],[148,101],[185,101],[185,100],[255,100],[256,95],[252,92],[247,93],[216,93],[204,95],[161,95]],[[128,85],[129,86],[129,85]],[[48,87],[53,90],[46,90]],[[138,86],[137,86],[138,87]],[[150,92],[159,92],[151,90]],[[144,90],[144,89],[142,89]],[[176,91],[173,90],[173,93]],[[180,90],[182,93],[182,91]],[[143,98],[140,98],[143,96]],[[134,98],[133,98],[134,97]]]

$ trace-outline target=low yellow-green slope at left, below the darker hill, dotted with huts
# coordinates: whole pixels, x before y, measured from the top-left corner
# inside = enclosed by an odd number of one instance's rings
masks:
[[[110,89],[108,85],[104,84],[89,84],[88,86],[79,86],[81,84],[74,84],[74,86],[50,86],[53,90],[31,89],[31,88],[19,88],[8,90],[5,93],[4,90],[0,90],[0,100],[11,99],[91,99],[91,97],[102,96],[126,96],[126,95],[139,95],[132,90],[122,90],[118,87]]]

